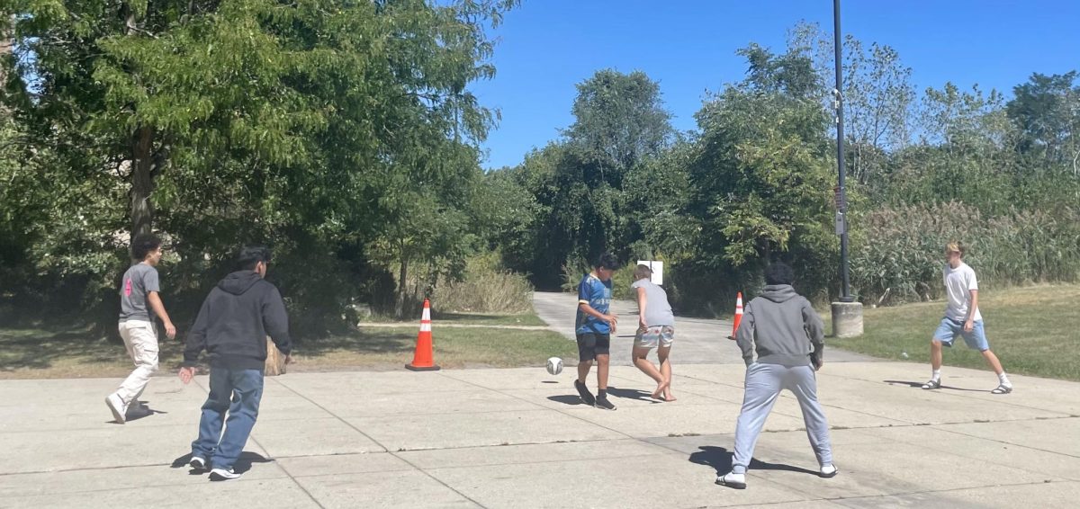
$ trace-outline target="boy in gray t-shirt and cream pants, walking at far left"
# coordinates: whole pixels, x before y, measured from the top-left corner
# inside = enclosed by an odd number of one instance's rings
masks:
[[[124,340],[127,355],[135,361],[132,371],[116,393],[105,398],[117,423],[127,421],[127,412],[146,413],[138,397],[146,389],[154,371],[158,371],[158,331],[154,317],[165,325],[165,335],[176,338],[176,327],[168,319],[165,305],[158,293],[158,270],[161,261],[161,239],[154,235],[137,235],[132,242],[135,263],[124,273],[120,283],[120,338]]]

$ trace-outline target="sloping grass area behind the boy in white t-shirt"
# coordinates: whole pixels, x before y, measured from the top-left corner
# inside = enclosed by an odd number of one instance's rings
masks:
[[[1041,285],[980,294],[978,307],[990,349],[1005,371],[1080,381],[1078,302],[1077,285]],[[943,301],[866,308],[862,336],[831,338],[827,343],[874,357],[929,364],[930,338],[944,311]],[[968,348],[962,338],[957,338],[955,345],[945,348],[945,366],[987,369],[982,355]],[[907,358],[903,357],[905,352]]]

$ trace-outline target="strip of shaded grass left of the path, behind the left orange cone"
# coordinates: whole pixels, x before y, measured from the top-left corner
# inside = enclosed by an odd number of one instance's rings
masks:
[[[413,360],[416,335],[417,327],[410,326],[298,341],[297,363],[289,370],[403,369]],[[572,341],[552,331],[440,329],[436,324],[434,345],[435,363],[450,369],[543,366],[548,357],[577,355]],[[172,375],[183,360],[183,343],[162,336],[159,346],[159,375]],[[119,334],[94,338],[89,328],[78,327],[0,328],[0,379],[123,377],[133,368]]]

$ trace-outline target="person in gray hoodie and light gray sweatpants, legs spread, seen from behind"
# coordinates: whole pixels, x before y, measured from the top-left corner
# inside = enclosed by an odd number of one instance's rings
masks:
[[[746,487],[746,468],[754,457],[754,445],[783,389],[791,390],[799,401],[821,477],[837,473],[814,376],[824,362],[823,326],[810,302],[792,288],[794,280],[792,267],[783,263],[769,265],[765,270],[765,290],[746,305],[735,331],[746,362],[746,388],[735,427],[731,471],[718,476],[717,484]]]

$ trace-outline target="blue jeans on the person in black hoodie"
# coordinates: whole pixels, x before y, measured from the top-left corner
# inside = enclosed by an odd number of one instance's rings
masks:
[[[262,371],[211,368],[210,397],[203,403],[199,438],[191,442],[191,455],[210,459],[214,468],[232,468],[259,416],[261,399]],[[221,426],[226,424],[222,436]]]

